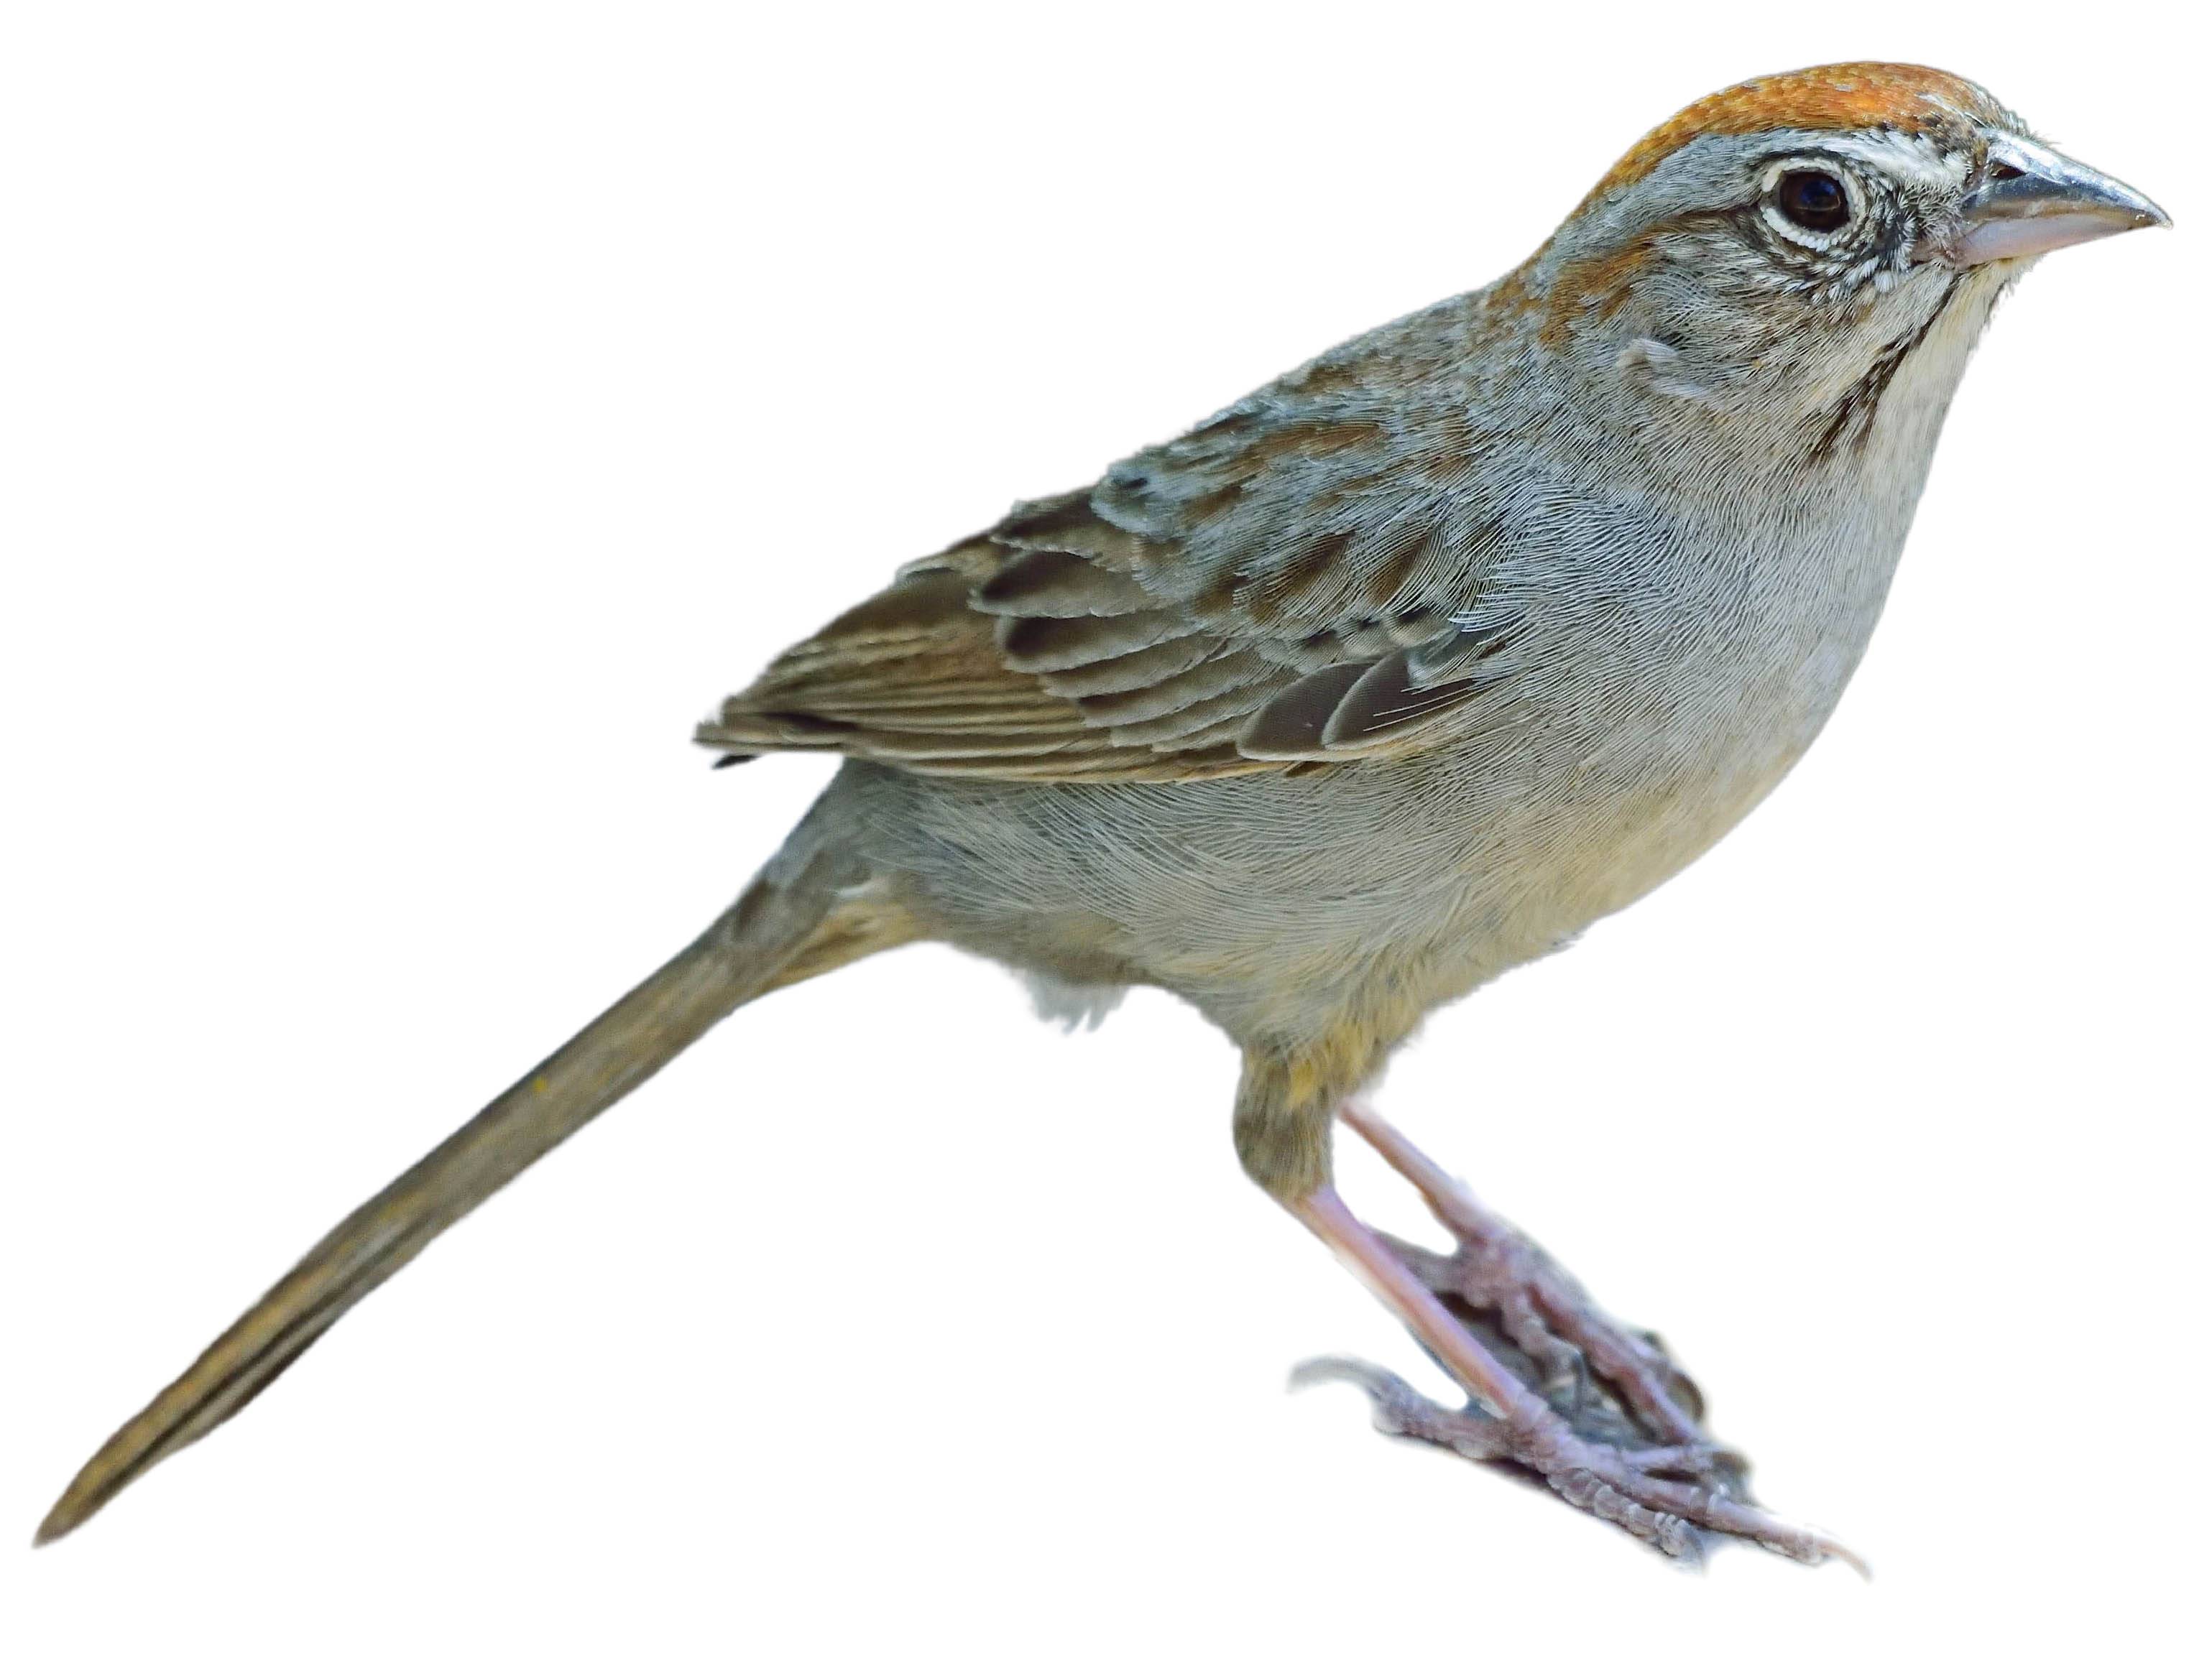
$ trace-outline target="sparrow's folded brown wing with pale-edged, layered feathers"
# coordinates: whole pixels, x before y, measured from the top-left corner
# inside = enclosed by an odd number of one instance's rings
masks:
[[[1188,780],[1398,756],[1515,672],[1464,413],[1332,358],[909,564],[699,727],[732,754]],[[1349,385],[1347,385],[1349,382]]]

